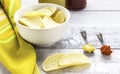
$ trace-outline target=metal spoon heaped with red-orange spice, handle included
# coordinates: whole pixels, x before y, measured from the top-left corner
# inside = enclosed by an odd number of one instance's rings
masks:
[[[100,40],[100,42],[102,44],[102,46],[100,48],[101,53],[104,54],[104,55],[110,55],[112,53],[112,50],[111,50],[109,45],[105,45],[103,37],[102,37],[102,33],[98,33],[97,37],[98,37],[98,39]]]

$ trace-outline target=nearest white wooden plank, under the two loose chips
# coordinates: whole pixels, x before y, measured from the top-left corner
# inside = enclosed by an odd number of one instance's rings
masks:
[[[120,74],[120,51],[113,50],[111,56],[101,55],[99,49],[95,50],[94,53],[84,53],[82,49],[37,49],[37,63],[41,70],[41,74]],[[77,66],[65,68],[57,71],[45,73],[41,69],[43,60],[54,53],[72,53],[80,52],[88,56],[91,61],[90,66]]]

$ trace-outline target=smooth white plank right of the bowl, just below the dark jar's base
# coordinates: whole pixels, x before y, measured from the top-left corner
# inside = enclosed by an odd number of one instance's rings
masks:
[[[119,11],[71,11],[74,25],[120,25]]]

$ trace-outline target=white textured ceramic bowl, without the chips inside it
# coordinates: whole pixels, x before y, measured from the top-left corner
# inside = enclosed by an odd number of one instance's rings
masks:
[[[19,23],[19,19],[26,12],[43,8],[46,6],[54,6],[64,11],[66,14],[66,21],[60,26],[49,28],[49,29],[31,29]],[[39,45],[39,46],[50,46],[50,45],[53,45],[55,42],[61,40],[64,35],[64,32],[67,29],[67,26],[68,26],[67,23],[69,19],[70,19],[70,12],[66,8],[60,5],[50,4],[50,3],[40,3],[36,5],[22,7],[14,15],[14,20],[17,24],[18,32],[23,37],[23,39],[25,39],[26,41],[32,44]]]

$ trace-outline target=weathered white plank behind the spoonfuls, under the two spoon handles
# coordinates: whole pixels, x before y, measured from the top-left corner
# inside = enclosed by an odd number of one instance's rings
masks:
[[[120,49],[120,27],[119,26],[98,26],[98,25],[76,25],[72,24],[66,31],[62,40],[58,41],[52,46],[44,47],[44,49],[79,49],[85,44],[80,31],[86,30],[88,42],[94,45],[96,48],[101,47],[101,43],[98,40],[96,33],[101,32],[103,34],[105,44],[111,46],[114,49]],[[40,48],[36,46],[36,48]]]

